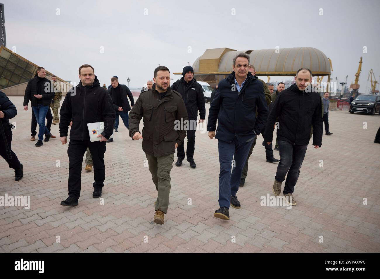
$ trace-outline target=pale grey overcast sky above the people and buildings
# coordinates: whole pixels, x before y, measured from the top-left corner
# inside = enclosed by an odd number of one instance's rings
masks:
[[[73,82],[79,81],[78,67],[91,64],[101,84],[117,75],[120,83],[130,77],[130,87],[142,87],[158,64],[181,72],[206,49],[277,45],[321,50],[332,60],[332,77],[342,82],[348,75],[348,85],[363,56],[359,91],[369,90],[371,68],[379,80],[378,0],[2,2],[7,47]]]

